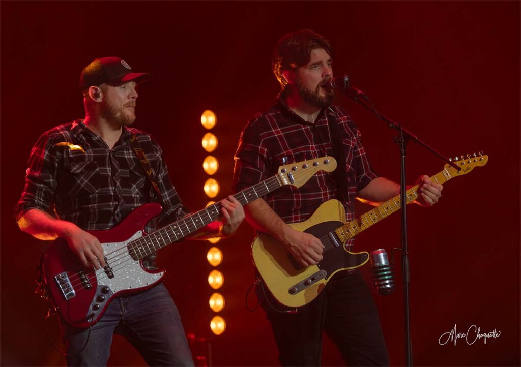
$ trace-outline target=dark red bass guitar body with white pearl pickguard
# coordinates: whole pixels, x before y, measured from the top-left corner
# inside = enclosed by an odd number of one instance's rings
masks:
[[[57,239],[49,245],[43,261],[44,282],[49,298],[62,320],[73,327],[90,327],[101,319],[114,298],[142,292],[164,279],[166,275],[164,269],[148,270],[143,267],[143,260],[132,260],[126,250],[126,244],[141,237],[145,224],[161,211],[162,208],[158,204],[145,204],[130,212],[110,230],[89,231],[100,241],[109,260],[108,264],[114,267],[112,278],[103,271],[98,270],[94,273],[93,268],[84,268],[64,239]],[[116,253],[115,251],[129,257],[123,266],[118,264],[117,259],[110,263],[110,254]],[[80,283],[81,278],[76,270],[83,270],[90,287]],[[56,280],[56,276],[61,273],[67,273],[70,277],[75,292],[75,295],[69,299],[65,298]]]

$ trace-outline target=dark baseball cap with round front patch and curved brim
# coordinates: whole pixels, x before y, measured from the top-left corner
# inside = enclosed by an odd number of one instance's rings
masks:
[[[134,81],[144,83],[152,80],[152,74],[135,73],[124,60],[119,57],[102,57],[95,59],[83,69],[80,76],[80,89],[91,85],[118,84]]]

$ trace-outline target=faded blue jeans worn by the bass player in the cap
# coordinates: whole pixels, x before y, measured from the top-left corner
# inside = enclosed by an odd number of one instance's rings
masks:
[[[148,365],[194,365],[179,312],[163,283],[115,298],[90,332],[65,322],[61,326],[69,366],[106,366],[114,333],[127,338]]]

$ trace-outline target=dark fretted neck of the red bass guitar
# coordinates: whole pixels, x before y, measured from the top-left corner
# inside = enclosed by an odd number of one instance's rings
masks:
[[[263,182],[238,192],[233,195],[233,197],[244,206],[259,197],[274,191],[283,184],[284,183],[279,179],[279,175],[274,175]],[[200,211],[190,214],[188,217],[168,224],[151,234],[136,239],[132,244],[129,244],[130,251],[133,251],[133,254],[131,255],[133,255],[135,259],[143,259],[173,242],[190,236],[199,231],[202,227],[221,217],[220,202],[210,205]]]

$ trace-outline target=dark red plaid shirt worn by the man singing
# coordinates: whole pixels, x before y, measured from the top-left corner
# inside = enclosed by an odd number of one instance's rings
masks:
[[[348,187],[346,220],[354,219],[353,203],[359,190],[376,174],[370,167],[358,127],[338,106],[331,107],[342,135]],[[334,156],[329,125],[324,110],[315,123],[306,122],[279,97],[278,103],[250,120],[241,133],[235,153],[233,191],[254,185],[277,173],[282,164],[321,156]],[[338,162],[338,168],[342,164]],[[302,222],[329,199],[340,199],[332,173],[318,172],[300,188],[287,185],[264,197],[284,222]],[[352,241],[351,241],[352,242]],[[350,245],[351,243],[348,243]]]

